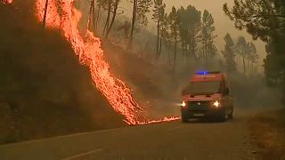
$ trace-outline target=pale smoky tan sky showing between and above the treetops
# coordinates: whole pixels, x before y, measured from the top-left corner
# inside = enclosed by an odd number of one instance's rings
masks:
[[[172,6],[176,8],[180,8],[180,6],[186,7],[187,5],[191,4],[194,5],[199,11],[204,11],[207,9],[209,12],[212,13],[215,19],[215,26],[216,26],[216,46],[218,51],[224,50],[224,35],[228,32],[232,35],[232,38],[237,38],[238,36],[245,36],[248,41],[253,41],[252,37],[245,31],[239,30],[234,28],[234,22],[231,21],[223,11],[223,4],[227,3],[230,6],[233,4],[233,0],[164,0],[164,3],[167,4],[167,12],[171,11]],[[132,15],[132,4],[127,1],[122,1],[120,4],[121,9],[125,11],[125,15],[127,17],[131,17]],[[151,20],[151,13],[149,14],[149,28],[155,31],[155,24]],[[265,43],[256,40],[253,41],[256,44],[257,52],[260,55],[259,60],[259,68],[262,69],[263,59],[265,58]]]

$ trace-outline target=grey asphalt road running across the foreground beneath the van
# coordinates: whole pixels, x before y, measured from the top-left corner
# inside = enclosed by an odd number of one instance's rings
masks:
[[[0,159],[259,159],[243,116],[226,123],[180,121],[80,133],[0,146]]]

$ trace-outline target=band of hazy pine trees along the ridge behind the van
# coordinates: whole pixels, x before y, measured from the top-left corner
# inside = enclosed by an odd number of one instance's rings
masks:
[[[166,12],[166,4],[163,0],[131,0],[129,2],[133,5],[133,15],[130,21],[127,19],[124,21],[122,19],[124,15],[116,19],[118,15],[124,13],[124,11],[119,13],[117,11],[119,0],[96,0],[96,3],[91,1],[89,28],[98,33],[99,17],[100,15],[105,17],[101,27],[103,28],[102,37],[109,39],[111,33],[111,39],[117,39],[116,41],[128,41],[127,44],[134,45],[140,42],[138,44],[141,48],[140,52],[153,53],[151,57],[160,62],[165,60],[163,63],[174,71],[181,70],[175,69],[177,67],[188,68],[189,66],[212,68],[213,65],[218,65],[217,60],[213,61],[213,59],[215,57],[221,59],[219,57],[222,55],[224,56],[224,60],[221,60],[224,61],[222,66],[227,66],[228,71],[239,71],[238,66],[242,65],[244,75],[250,76],[254,73],[258,61],[255,44],[248,43],[244,37],[240,37],[238,42],[232,42],[233,44],[227,42],[231,40],[225,38],[227,46],[224,51],[219,52],[215,43],[215,20],[207,10],[200,12],[195,6],[189,4],[185,8],[181,6],[178,9],[173,6],[171,12]],[[153,37],[153,40],[151,40],[153,33],[149,34],[148,31],[150,16],[156,24],[156,37]],[[112,28],[114,28],[113,31],[111,31]],[[121,32],[124,38],[118,38]],[[129,49],[134,50],[134,48]],[[152,48],[155,50],[151,51]],[[139,54],[141,56],[141,53]],[[150,57],[148,59],[151,60]],[[185,64],[184,67],[182,64]]]

